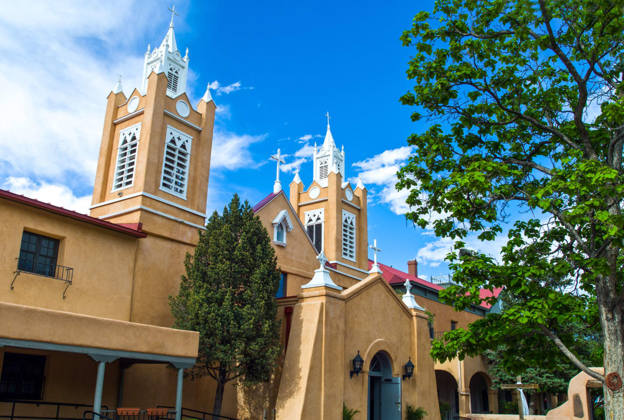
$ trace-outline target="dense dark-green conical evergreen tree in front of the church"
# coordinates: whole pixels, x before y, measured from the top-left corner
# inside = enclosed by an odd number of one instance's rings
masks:
[[[169,296],[174,328],[199,331],[192,379],[217,382],[213,414],[221,414],[225,384],[253,384],[270,377],[280,347],[275,294],[280,284],[266,228],[238,195],[199,231],[195,253],[184,260],[180,291]],[[217,417],[214,418],[217,420]]]

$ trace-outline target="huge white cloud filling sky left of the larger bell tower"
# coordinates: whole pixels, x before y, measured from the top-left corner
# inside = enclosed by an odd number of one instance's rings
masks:
[[[92,182],[105,98],[118,74],[127,94],[139,85],[143,56],[135,44],[160,41],[145,36],[154,22],[162,22],[164,36],[162,7],[126,0],[2,5],[0,177]]]

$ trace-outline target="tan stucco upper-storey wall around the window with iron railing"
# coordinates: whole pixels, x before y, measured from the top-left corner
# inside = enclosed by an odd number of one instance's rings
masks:
[[[55,215],[19,203],[0,200],[0,275],[9,281],[0,301],[59,311],[130,319],[135,253],[139,239]],[[54,278],[21,273],[17,268],[24,230],[60,239],[59,265],[74,269],[72,285]]]

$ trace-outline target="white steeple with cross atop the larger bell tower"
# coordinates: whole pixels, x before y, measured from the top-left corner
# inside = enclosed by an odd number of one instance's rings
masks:
[[[147,78],[152,74],[165,73],[167,76],[167,95],[176,97],[187,89],[187,72],[188,72],[188,48],[186,55],[182,57],[178,51],[175,42],[175,33],[173,32],[173,16],[177,15],[175,7],[169,9],[171,13],[171,22],[164,39],[158,48],[150,52],[150,46],[147,46],[145,52],[145,61],[143,66],[143,84],[141,90],[147,92]]]

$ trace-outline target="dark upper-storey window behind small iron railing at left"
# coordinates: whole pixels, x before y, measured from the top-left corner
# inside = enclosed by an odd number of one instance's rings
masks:
[[[17,269],[42,276],[54,277],[56,274],[56,257],[59,253],[59,240],[37,235],[22,233],[22,245],[19,248]]]

